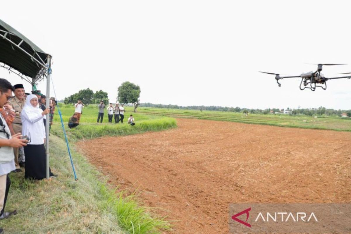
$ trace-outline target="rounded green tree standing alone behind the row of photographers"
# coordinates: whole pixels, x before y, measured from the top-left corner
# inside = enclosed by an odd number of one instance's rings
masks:
[[[133,103],[134,112],[137,111],[137,107],[140,105],[140,86],[135,85],[129,81],[126,81],[118,87],[118,97],[117,100],[120,103]]]

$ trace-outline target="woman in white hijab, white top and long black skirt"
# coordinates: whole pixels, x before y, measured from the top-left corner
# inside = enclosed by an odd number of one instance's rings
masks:
[[[38,98],[34,94],[27,96],[24,108],[21,112],[22,135],[29,137],[27,146],[24,147],[26,155],[25,178],[41,180],[46,178],[46,154],[45,154],[45,127],[44,116],[50,112],[39,108]],[[50,177],[56,177],[50,171]]]

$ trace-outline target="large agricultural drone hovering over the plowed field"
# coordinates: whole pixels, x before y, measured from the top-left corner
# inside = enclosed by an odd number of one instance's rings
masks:
[[[317,87],[320,87],[324,90],[327,89],[327,84],[326,84],[327,80],[342,79],[342,78],[351,79],[351,75],[326,78],[322,73],[320,73],[322,71],[323,66],[335,66],[335,65],[346,65],[346,64],[331,64],[331,63],[322,64],[322,63],[319,63],[319,64],[314,64],[314,65],[318,66],[317,71],[302,73],[301,75],[298,75],[298,76],[280,76],[277,73],[271,73],[271,72],[261,72],[261,73],[276,75],[275,79],[277,80],[278,87],[281,86],[281,84],[279,83],[279,80],[282,80],[284,78],[302,78],[301,83],[300,83],[300,89],[304,90],[307,88],[307,89],[311,89],[312,91],[315,91]],[[351,74],[351,72],[337,73],[337,74],[338,75]]]

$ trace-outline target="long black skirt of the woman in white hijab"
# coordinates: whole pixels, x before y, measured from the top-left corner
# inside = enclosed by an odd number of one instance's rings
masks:
[[[42,180],[46,178],[46,153],[44,144],[24,146],[26,155],[25,178]],[[52,175],[49,168],[49,174]]]

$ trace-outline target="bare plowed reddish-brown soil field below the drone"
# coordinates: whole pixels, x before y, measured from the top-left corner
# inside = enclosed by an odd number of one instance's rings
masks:
[[[349,132],[177,122],[78,146],[111,184],[162,208],[175,233],[227,233],[230,203],[351,202]]]

